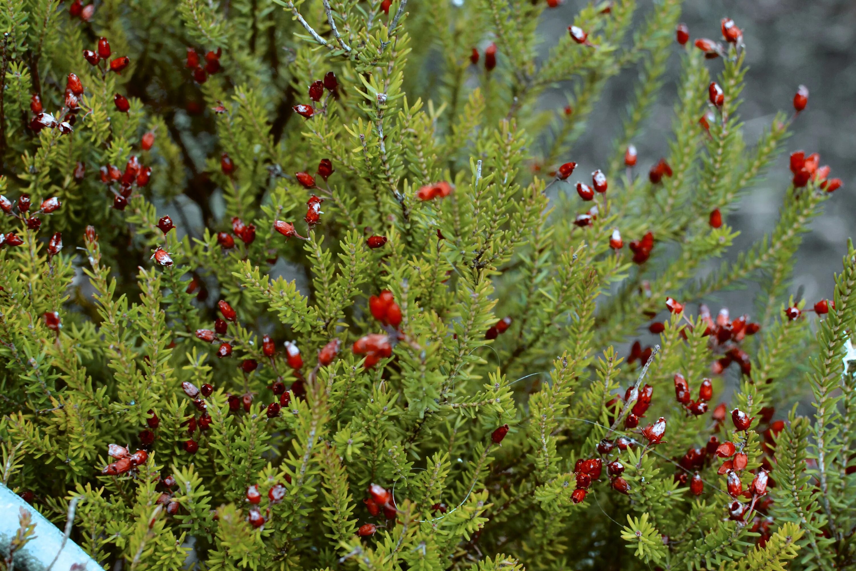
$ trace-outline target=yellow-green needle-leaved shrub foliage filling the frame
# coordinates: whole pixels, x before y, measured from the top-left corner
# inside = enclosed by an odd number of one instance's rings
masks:
[[[673,40],[679,0],[591,3],[568,22],[586,42],[563,34],[549,49],[549,13],[529,0],[142,0],[99,3],[90,21],[66,10],[0,7],[0,193],[32,200],[25,216],[3,199],[0,473],[51,520],[73,503],[71,538],[104,568],[856,564],[852,244],[828,313],[784,311],[808,307],[790,280],[831,196],[822,177],[788,187],[776,227],[707,271],[738,235],[710,212],[727,221],[792,121],[776,114],[746,140],[751,45],[728,45],[712,71]],[[80,57],[100,36],[110,58],[130,57],[122,74]],[[33,95],[57,120],[71,112],[69,73],[85,88],[74,124],[36,129]],[[639,80],[597,165],[608,192],[581,202],[574,179],[544,173],[574,159],[622,73]],[[333,75],[336,88],[306,95]],[[646,176],[654,157],[622,169],[672,89],[672,174]],[[567,110],[544,107],[548,90]],[[101,180],[126,164],[124,186]],[[42,211],[51,197],[61,207]],[[163,215],[175,229],[163,233]],[[633,252],[610,247],[615,230]],[[696,304],[750,281],[760,330],[719,335]],[[669,315],[667,297],[689,305]],[[625,359],[652,320],[651,358],[639,346]],[[675,401],[678,373],[693,397],[711,379],[714,410]],[[653,398],[625,402],[628,388]],[[813,415],[798,414],[809,393]],[[661,416],[665,435],[649,442],[641,429]],[[729,493],[710,437],[745,459],[728,460],[742,490],[771,470],[766,494]],[[147,460],[110,473],[110,444]],[[33,535],[20,523],[14,545]]]

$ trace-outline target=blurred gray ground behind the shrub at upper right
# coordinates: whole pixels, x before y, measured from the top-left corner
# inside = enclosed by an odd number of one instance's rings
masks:
[[[584,5],[583,0],[568,0],[556,8],[550,13],[556,17],[544,19],[544,33],[552,38],[568,33],[568,24]],[[639,0],[639,6],[644,15],[650,12],[652,2]],[[757,139],[776,110],[793,111],[791,102],[798,85],[804,84],[811,92],[808,107],[785,143],[786,152],[764,180],[746,194],[739,209],[728,215],[728,223],[741,232],[728,257],[734,257],[776,223],[790,179],[788,153],[798,149],[819,152],[821,164],[829,164],[830,176],[841,178],[844,186],[826,203],[823,215],[812,224],[812,232],[805,235],[800,248],[792,292],[803,286],[806,300],[813,304],[831,297],[833,272],[841,271],[847,238],[856,235],[856,0],[687,0],[681,21],[689,27],[691,41],[699,37],[720,40],[719,22],[726,16],[743,30],[746,42],[749,70],[740,116],[747,141]],[[675,50],[663,97],[647,122],[647,136],[636,141],[639,168],[643,169],[640,172],[646,172],[667,152],[675,81],[680,72]],[[711,74],[718,74],[722,61],[711,60],[708,67]],[[602,167],[596,164],[598,158],[609,156],[636,73],[632,70],[611,82],[591,117],[591,122],[603,128],[596,134],[591,127],[587,129],[573,157],[568,158],[580,163],[583,172]],[[555,101],[548,100],[548,105],[560,107],[565,103],[561,92],[550,97]],[[732,314],[751,313],[752,285],[748,293],[724,294],[722,302]],[[711,304],[711,309],[717,308]]]

